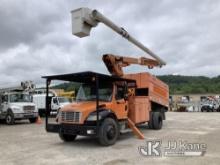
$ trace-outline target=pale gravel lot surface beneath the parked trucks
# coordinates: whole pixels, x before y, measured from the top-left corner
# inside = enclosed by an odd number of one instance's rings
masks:
[[[96,139],[78,137],[75,142],[64,143],[57,134],[46,133],[44,124],[19,121],[8,126],[0,124],[0,164],[220,164],[220,113],[168,112],[162,130],[149,130],[142,126],[145,140],[132,133],[121,135],[114,146],[102,147]],[[146,157],[140,155],[139,146],[146,140],[161,139],[163,147],[169,140],[205,143],[207,150],[201,157]]]

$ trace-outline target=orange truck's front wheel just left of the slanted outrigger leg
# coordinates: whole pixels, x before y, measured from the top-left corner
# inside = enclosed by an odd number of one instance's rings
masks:
[[[106,118],[99,128],[99,143],[103,146],[115,144],[119,136],[117,122],[112,118]]]

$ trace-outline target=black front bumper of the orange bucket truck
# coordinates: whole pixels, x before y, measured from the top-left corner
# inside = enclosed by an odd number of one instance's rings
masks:
[[[97,136],[97,126],[77,125],[77,124],[47,124],[47,132],[81,136]]]

